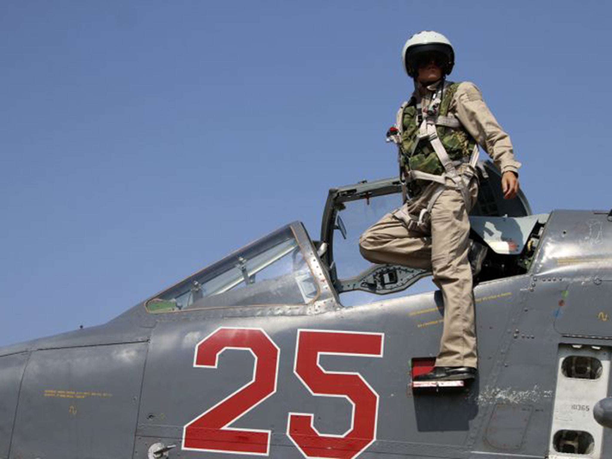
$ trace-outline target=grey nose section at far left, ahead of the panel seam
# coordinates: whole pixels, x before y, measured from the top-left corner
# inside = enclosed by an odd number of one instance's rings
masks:
[[[10,438],[27,353],[0,357],[0,457],[9,457]]]

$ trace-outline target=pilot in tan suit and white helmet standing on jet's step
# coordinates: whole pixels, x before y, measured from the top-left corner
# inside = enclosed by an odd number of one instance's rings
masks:
[[[510,137],[475,84],[452,83],[455,53],[442,34],[423,31],[406,42],[401,57],[414,80],[388,140],[398,145],[405,204],[360,237],[373,263],[433,272],[442,292],[444,326],[436,364],[416,381],[468,380],[476,376],[477,350],[468,212],[476,203],[479,145],[501,170],[504,198],[519,190]]]

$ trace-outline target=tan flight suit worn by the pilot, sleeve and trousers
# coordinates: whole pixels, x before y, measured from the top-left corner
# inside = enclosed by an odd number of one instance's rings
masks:
[[[422,99],[425,107],[431,102],[437,84],[428,86]],[[517,173],[520,163],[514,160],[510,137],[491,114],[482,94],[473,83],[461,83],[449,106],[455,116],[490,155],[502,173]],[[401,119],[401,117],[400,117]],[[461,173],[471,166],[458,166]],[[436,182],[404,204],[404,211],[419,215],[427,207],[436,190]],[[444,328],[436,367],[477,367],[474,294],[468,261],[468,212],[476,203],[478,182],[469,183],[471,202],[466,209],[461,192],[449,182],[431,209],[430,228],[408,230],[403,212],[390,212],[368,228],[360,237],[362,255],[373,263],[392,263],[433,272],[433,282],[442,291]]]

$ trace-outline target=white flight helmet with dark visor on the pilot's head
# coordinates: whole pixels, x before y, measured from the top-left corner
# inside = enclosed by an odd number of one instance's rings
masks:
[[[425,53],[440,53],[445,56],[446,63],[442,66],[442,72],[444,72],[444,75],[449,75],[452,72],[453,65],[455,65],[453,45],[444,35],[425,30],[412,35],[401,50],[401,59],[408,76],[412,78],[416,76],[416,61],[419,56]]]

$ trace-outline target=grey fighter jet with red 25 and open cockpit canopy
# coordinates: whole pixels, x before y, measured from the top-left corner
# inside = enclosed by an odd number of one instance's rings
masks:
[[[329,191],[317,240],[290,223],[102,326],[1,348],[0,458],[612,457],[612,211],[532,215],[483,171],[471,384],[412,383],[444,307],[430,273],[360,256],[402,199],[364,181]]]

